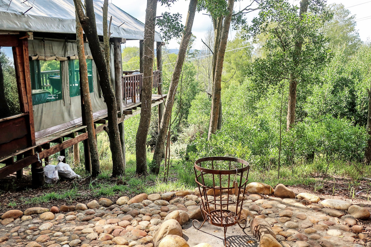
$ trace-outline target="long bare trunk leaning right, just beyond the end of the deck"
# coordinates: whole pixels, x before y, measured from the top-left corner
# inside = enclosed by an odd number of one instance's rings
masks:
[[[188,7],[187,20],[185,21],[185,29],[183,33],[182,40],[180,42],[178,57],[175,62],[175,68],[173,76],[171,77],[169,91],[167,93],[167,99],[165,103],[165,111],[162,114],[162,121],[160,126],[160,131],[157,136],[155,150],[152,160],[152,171],[158,174],[160,171],[160,164],[162,160],[162,155],[164,153],[164,145],[167,129],[170,123],[171,111],[173,110],[175,94],[177,92],[177,87],[179,83],[180,74],[182,72],[182,67],[185,59],[185,53],[187,52],[187,46],[192,35],[192,26],[194,15],[196,13],[197,0],[191,0]]]

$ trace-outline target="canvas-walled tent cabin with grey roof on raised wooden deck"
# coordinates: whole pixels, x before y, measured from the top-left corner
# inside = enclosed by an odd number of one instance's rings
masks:
[[[29,165],[34,178],[40,167],[49,163],[51,155],[58,152],[63,155],[65,149],[79,142],[84,143],[85,167],[89,170],[75,6],[72,0],[37,0],[32,6],[27,4],[27,1],[12,1],[10,6],[0,7],[0,178],[14,172],[22,177],[22,169]],[[103,1],[94,0],[101,40],[102,6]],[[121,43],[138,40],[142,51],[144,24],[113,4],[108,6],[108,17],[111,16],[110,71],[114,89],[122,87],[122,95],[116,95],[123,105],[118,112],[121,123],[140,113],[143,76],[142,62],[138,72],[116,71],[122,68]],[[152,107],[159,105],[161,113],[166,95],[162,94],[163,42],[159,33],[155,34],[155,42],[157,70],[153,88],[158,94],[152,95]],[[119,49],[114,49],[115,46]],[[88,43],[85,53],[95,131],[99,133],[107,125],[107,107]],[[142,56],[143,52],[141,61]],[[115,78],[115,75],[120,76]]]

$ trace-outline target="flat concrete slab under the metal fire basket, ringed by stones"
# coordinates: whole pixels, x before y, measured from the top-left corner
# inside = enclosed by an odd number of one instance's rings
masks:
[[[201,222],[202,223],[202,222]],[[190,247],[199,243],[208,243],[213,247],[224,246],[224,228],[211,225],[206,222],[199,230],[196,230],[192,221],[183,225],[183,238],[187,241]],[[257,247],[258,240],[251,236],[250,227],[241,229],[238,225],[233,225],[227,228],[227,241],[229,247]]]

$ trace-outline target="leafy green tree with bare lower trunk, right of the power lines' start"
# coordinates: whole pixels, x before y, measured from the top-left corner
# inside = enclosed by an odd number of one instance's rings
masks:
[[[295,122],[298,83],[304,83],[330,57],[328,39],[319,32],[330,18],[323,0],[302,0],[300,9],[288,1],[266,0],[248,28],[254,37],[267,34],[263,45],[267,57],[257,58],[253,63],[254,80],[260,81],[263,90],[267,85],[289,80],[287,129]]]

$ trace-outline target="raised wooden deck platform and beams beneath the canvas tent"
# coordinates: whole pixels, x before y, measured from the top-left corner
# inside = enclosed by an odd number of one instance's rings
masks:
[[[164,102],[164,98],[166,98],[166,96],[167,95],[153,94],[152,107]],[[123,114],[121,115],[121,112],[118,112],[118,123],[121,123],[132,116],[140,114],[141,105],[141,102],[127,102],[127,105],[124,105]],[[107,113],[94,119],[94,123],[100,124],[95,129],[96,134],[104,131],[104,127],[107,126],[106,118]],[[45,159],[50,155],[53,155],[56,152],[66,149],[87,138],[88,133],[86,132],[86,126],[82,124],[78,124],[63,131],[56,132],[55,134],[39,138],[36,140],[35,146],[19,150],[11,155],[0,158],[0,163],[6,164],[5,167],[0,168],[0,179],[35,162],[39,162],[42,159]],[[50,146],[50,143],[56,143],[56,145]],[[23,158],[14,161],[14,158],[17,157],[17,155],[22,155]]]

